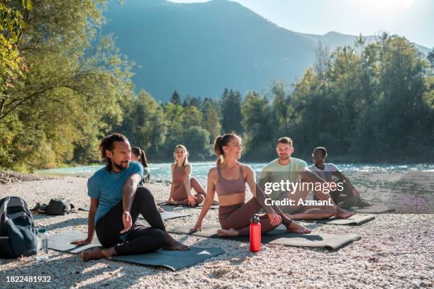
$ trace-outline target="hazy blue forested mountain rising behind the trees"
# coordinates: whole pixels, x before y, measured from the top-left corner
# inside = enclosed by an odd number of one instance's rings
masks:
[[[116,45],[136,63],[136,89],[163,102],[174,90],[183,97],[217,98],[225,87],[245,94],[267,89],[274,79],[294,81],[313,63],[318,40],[333,49],[356,38],[296,33],[227,0],[112,1],[104,15],[102,33],[113,33]]]

